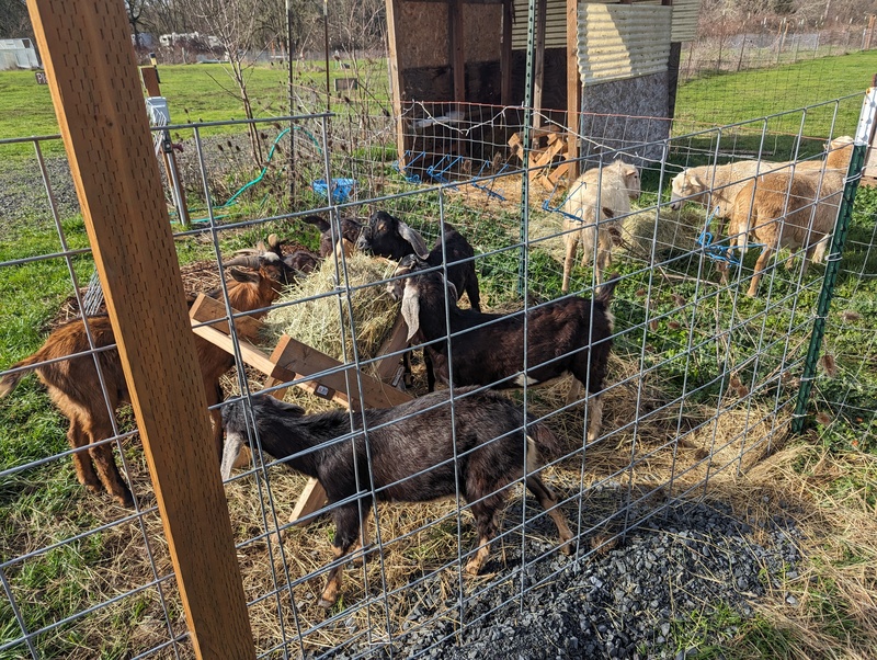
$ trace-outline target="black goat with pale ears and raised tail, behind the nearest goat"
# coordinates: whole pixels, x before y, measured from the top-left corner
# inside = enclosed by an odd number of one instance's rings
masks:
[[[432,342],[424,346],[438,377],[447,383],[447,335],[451,340],[454,385],[490,385],[499,388],[545,383],[567,372],[591,395],[588,440],[600,435],[603,411],[600,392],[606,377],[614,318],[610,311],[617,276],[606,282],[591,300],[568,297],[527,312],[527,371],[524,369],[524,315],[481,314],[459,309],[456,291],[446,286],[438,272],[422,272],[429,264],[415,255],[406,257],[395,276],[408,275],[387,285],[402,300],[408,341]],[[449,289],[451,328],[445,322],[445,293]],[[489,321],[493,321],[490,325]],[[577,389],[573,384],[573,391]],[[572,395],[571,395],[572,396]],[[571,397],[570,397],[571,398]]]

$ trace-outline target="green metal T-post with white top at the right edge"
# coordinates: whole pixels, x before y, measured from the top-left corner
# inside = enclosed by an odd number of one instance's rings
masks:
[[[807,401],[810,391],[813,389],[819,354],[822,350],[822,338],[825,334],[825,321],[831,309],[831,300],[834,296],[834,285],[838,281],[838,273],[841,270],[841,257],[846,244],[846,235],[850,231],[850,220],[853,217],[853,202],[858,190],[858,182],[862,180],[862,170],[865,164],[865,153],[868,149],[870,136],[874,133],[875,115],[877,115],[877,88],[870,88],[865,95],[862,104],[862,114],[858,117],[858,128],[856,129],[855,145],[853,155],[850,158],[850,169],[846,173],[846,184],[843,189],[843,198],[838,212],[838,221],[834,226],[834,234],[831,239],[831,250],[825,262],[825,276],[822,281],[822,291],[819,292],[817,303],[816,320],[813,321],[813,332],[810,335],[810,345],[807,349],[807,359],[804,363],[804,374],[801,385],[798,390],[798,400],[795,405],[795,416],[791,422],[791,432],[800,433],[804,430],[805,414],[807,412]]]

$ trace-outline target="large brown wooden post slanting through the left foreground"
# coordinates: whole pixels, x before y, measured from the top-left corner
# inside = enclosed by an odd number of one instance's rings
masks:
[[[27,0],[27,8],[194,653],[255,658],[125,5]]]

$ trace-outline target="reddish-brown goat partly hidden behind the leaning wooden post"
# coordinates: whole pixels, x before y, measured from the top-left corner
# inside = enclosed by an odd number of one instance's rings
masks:
[[[253,263],[251,258],[236,258],[225,265]],[[263,316],[266,308],[277,297],[278,283],[269,276],[276,275],[276,257],[266,253],[261,258],[262,268],[257,272],[244,272],[232,269],[232,280],[227,282],[228,298],[231,306],[240,311],[262,310],[253,314]],[[48,335],[43,346],[30,357],[13,364],[13,373],[0,378],[0,397],[15,388],[19,380],[31,371],[36,371],[39,380],[48,389],[55,405],[68,420],[70,429],[67,440],[70,447],[78,450],[89,446],[87,452],[73,453],[79,482],[92,492],[106,490],[123,507],[132,507],[130,490],[118,473],[113,458],[112,444],[101,441],[112,437],[113,422],[111,410],[122,403],[130,402],[122,361],[115,348],[115,337],[110,317],[95,316],[88,319],[89,332],[95,349],[106,349],[96,353],[103,383],[106,386],[104,400],[101,379],[94,368],[94,359],[88,353],[89,338],[82,319],[77,319],[57,328]],[[112,348],[106,348],[112,346]],[[215,406],[223,400],[219,378],[235,364],[232,355],[208,342],[195,337],[198,363],[204,378],[204,390],[207,406]],[[75,357],[69,357],[76,355]],[[69,357],[68,360],[62,360]],[[57,362],[49,362],[56,360]],[[48,363],[48,364],[47,364]],[[109,407],[107,407],[109,405]],[[217,457],[223,451],[221,417],[218,409],[210,411],[213,418],[213,442]],[[205,439],[206,440],[206,439]],[[95,474],[96,469],[96,474]]]

